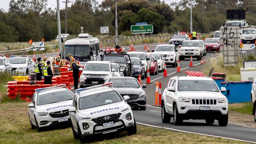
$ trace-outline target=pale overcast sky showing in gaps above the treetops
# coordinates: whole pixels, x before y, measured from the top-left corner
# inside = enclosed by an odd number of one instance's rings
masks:
[[[11,0],[0,0],[0,9],[4,9],[5,11],[8,11],[9,9],[9,2]],[[75,1],[75,0],[70,0],[70,1]],[[97,0],[98,3],[100,4],[103,0]],[[161,0],[162,1],[162,0]],[[165,0],[165,3],[170,4],[171,2],[176,2],[180,0]],[[65,0],[59,0],[59,7],[60,9],[65,8]],[[57,7],[57,0],[48,0],[47,2],[48,7],[51,7],[52,9],[55,9]],[[71,6],[72,3],[68,3],[68,6]]]

